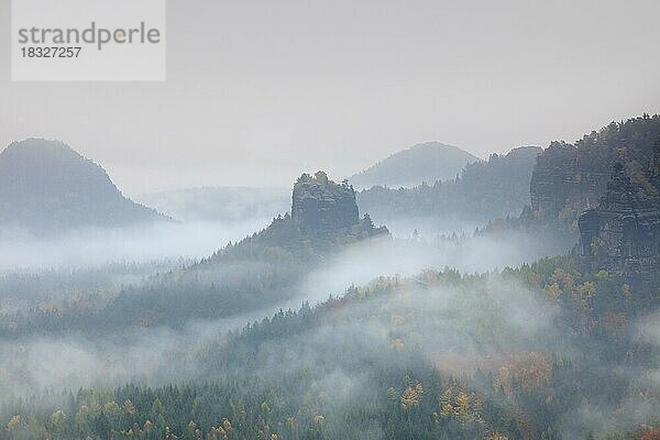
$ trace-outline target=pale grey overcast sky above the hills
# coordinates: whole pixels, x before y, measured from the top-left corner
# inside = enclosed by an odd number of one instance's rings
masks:
[[[486,158],[660,112],[657,0],[168,0],[164,82],[12,82],[0,147],[57,139],[124,193],[342,178],[416,143]]]

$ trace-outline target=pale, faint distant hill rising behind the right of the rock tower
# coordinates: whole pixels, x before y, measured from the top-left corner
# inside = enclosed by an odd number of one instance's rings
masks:
[[[453,179],[465,165],[480,161],[458,146],[426,142],[395,153],[349,180],[358,188],[415,187]]]

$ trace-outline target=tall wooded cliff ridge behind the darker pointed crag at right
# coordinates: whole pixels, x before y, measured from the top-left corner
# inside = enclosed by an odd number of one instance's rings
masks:
[[[658,114],[612,122],[574,144],[552,142],[534,168],[531,206],[519,217],[492,221],[484,232],[518,230],[574,244],[579,240],[580,217],[604,202],[608,184],[618,173],[616,168],[620,168],[636,191],[650,197],[644,199],[654,204],[660,180],[649,166],[656,161],[653,152],[659,145]],[[645,205],[656,209],[648,202]],[[604,251],[619,252],[614,248]]]

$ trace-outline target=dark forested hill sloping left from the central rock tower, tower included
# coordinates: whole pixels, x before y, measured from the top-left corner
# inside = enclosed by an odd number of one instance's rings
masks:
[[[84,298],[23,314],[0,312],[0,339],[177,328],[190,319],[274,307],[299,295],[297,283],[331,254],[355,242],[388,237],[385,227],[374,227],[366,215],[359,217],[354,189],[330,180],[323,172],[297,179],[292,212],[201,262],[123,286],[97,308],[90,309]]]

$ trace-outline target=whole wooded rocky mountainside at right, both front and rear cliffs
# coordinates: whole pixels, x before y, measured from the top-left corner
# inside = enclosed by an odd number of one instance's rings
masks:
[[[531,207],[488,223],[484,232],[514,229],[558,242],[580,240],[591,270],[641,282],[660,257],[659,157],[658,114],[612,122],[574,144],[552,142],[534,169]]]

